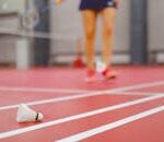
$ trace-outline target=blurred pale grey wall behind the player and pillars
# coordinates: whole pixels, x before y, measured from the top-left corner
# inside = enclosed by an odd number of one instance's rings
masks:
[[[34,1],[34,0],[32,0]],[[42,1],[42,0],[40,0]],[[116,35],[114,49],[114,63],[130,63],[130,27],[131,1],[122,0],[116,19]],[[148,28],[148,63],[164,63],[164,1],[147,1],[147,28]],[[25,0],[0,0],[0,28],[20,29],[19,13],[25,7]],[[79,0],[66,0],[61,5],[49,1],[49,29],[42,31],[52,39],[49,40],[49,63],[71,62],[77,54],[77,40],[83,43],[82,19],[78,11]],[[139,5],[136,5],[138,8]],[[144,13],[143,13],[144,14]],[[133,16],[133,15],[132,15]],[[98,17],[101,19],[101,17]],[[45,19],[46,20],[46,19]],[[97,22],[96,51],[101,51],[101,21]],[[0,35],[0,63],[13,63],[16,59],[16,40],[9,35]],[[36,44],[32,44],[33,46]],[[82,45],[83,46],[83,45]],[[35,50],[39,51],[39,48]],[[43,55],[44,56],[44,55]],[[35,60],[35,58],[33,59]]]

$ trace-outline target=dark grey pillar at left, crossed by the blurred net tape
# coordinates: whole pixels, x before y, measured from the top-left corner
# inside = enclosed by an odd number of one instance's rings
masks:
[[[43,8],[49,7],[49,0],[35,0],[39,11],[39,23],[35,26],[35,32],[49,33],[49,9],[43,12]],[[35,66],[48,66],[50,51],[50,39],[35,38],[34,42],[34,64]]]

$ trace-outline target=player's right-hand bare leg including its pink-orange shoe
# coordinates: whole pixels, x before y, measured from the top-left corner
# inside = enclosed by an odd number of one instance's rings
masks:
[[[104,74],[107,78],[115,78],[115,73],[110,70],[112,66],[112,55],[114,48],[114,29],[115,29],[115,19],[116,9],[106,8],[101,11],[102,22],[103,22],[103,45],[102,45],[102,59],[108,68]]]

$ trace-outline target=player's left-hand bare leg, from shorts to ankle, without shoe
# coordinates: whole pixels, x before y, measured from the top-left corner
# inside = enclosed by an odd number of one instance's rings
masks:
[[[91,10],[82,11],[87,70],[94,70],[96,15]]]

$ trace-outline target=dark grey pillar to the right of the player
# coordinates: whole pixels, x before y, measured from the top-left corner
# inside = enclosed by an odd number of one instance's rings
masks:
[[[147,0],[131,0],[131,63],[148,63]]]

